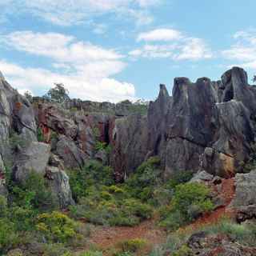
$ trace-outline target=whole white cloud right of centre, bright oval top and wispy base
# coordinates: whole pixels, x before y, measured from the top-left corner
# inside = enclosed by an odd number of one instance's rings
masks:
[[[178,30],[151,30],[138,34],[137,41],[146,41],[146,45],[131,50],[129,54],[133,58],[171,58],[180,61],[213,57],[204,40],[188,37]]]

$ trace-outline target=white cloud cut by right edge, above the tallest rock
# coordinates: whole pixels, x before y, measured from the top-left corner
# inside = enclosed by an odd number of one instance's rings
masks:
[[[256,30],[238,31],[233,36],[235,43],[230,49],[223,50],[224,58],[240,62],[236,66],[256,68]],[[234,66],[232,64],[231,66]]]

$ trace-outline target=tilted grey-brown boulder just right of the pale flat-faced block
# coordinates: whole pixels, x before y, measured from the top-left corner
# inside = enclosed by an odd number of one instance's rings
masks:
[[[78,148],[74,140],[65,135],[59,136],[59,141],[56,145],[56,152],[64,162],[66,168],[82,168],[88,157]]]

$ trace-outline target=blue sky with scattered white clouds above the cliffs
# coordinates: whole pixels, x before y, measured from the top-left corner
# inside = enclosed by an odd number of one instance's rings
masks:
[[[0,0],[0,70],[21,93],[63,83],[71,98],[171,94],[175,77],[256,74],[255,0]]]

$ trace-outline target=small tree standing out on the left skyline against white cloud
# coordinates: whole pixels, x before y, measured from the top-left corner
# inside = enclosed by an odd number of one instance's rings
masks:
[[[62,83],[54,83],[54,88],[51,88],[47,94],[43,97],[49,99],[52,102],[66,102],[66,100],[70,99],[69,91],[66,90],[65,86]]]

